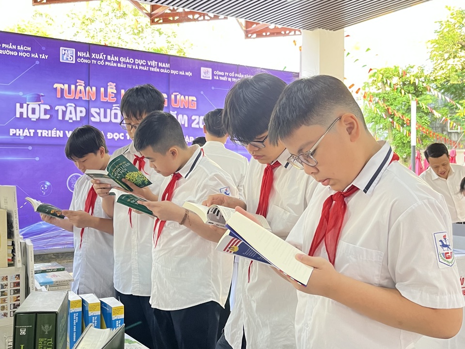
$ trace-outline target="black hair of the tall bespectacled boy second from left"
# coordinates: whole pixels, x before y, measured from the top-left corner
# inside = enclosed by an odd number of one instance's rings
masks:
[[[131,87],[121,98],[121,113],[130,120],[142,120],[152,111],[163,111],[164,108],[165,97],[152,84]]]

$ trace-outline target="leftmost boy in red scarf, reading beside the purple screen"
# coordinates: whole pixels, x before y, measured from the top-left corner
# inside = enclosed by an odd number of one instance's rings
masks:
[[[64,151],[83,173],[105,169],[110,159],[102,132],[90,125],[76,128]],[[113,221],[104,212],[102,199],[85,175],[76,181],[71,206],[62,214],[66,219],[44,214],[41,218],[74,232],[73,292],[94,293],[98,297],[114,295]]]

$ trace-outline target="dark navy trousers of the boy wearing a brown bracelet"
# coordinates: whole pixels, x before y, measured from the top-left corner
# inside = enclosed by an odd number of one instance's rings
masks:
[[[156,349],[215,349],[220,309],[215,301],[180,310],[154,308]]]

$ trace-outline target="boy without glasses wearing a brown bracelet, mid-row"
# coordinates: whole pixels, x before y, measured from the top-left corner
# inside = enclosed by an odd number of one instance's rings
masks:
[[[150,233],[155,346],[213,349],[219,312],[231,285],[233,256],[215,251],[225,230],[205,224],[182,205],[226,190],[237,195],[237,189],[231,176],[203,156],[198,145],[187,146],[181,125],[169,113],[148,115],[134,144],[165,176],[158,201],[140,202],[157,217]]]

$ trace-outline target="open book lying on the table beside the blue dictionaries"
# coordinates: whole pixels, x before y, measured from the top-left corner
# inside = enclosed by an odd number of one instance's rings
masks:
[[[96,329],[89,324],[80,336],[74,349],[120,349],[124,348],[124,325],[117,329]]]

